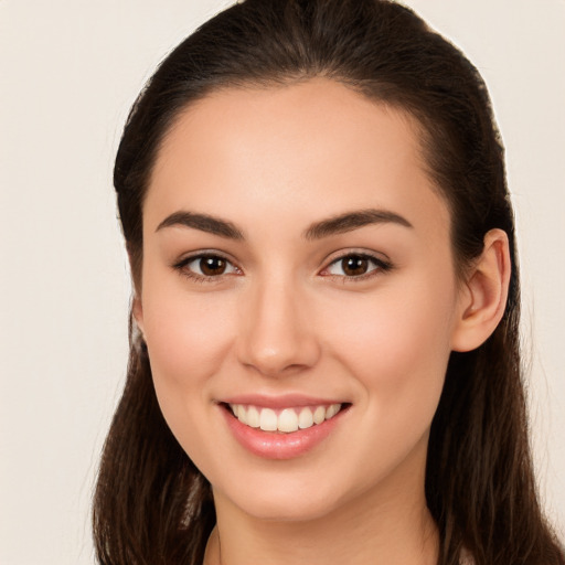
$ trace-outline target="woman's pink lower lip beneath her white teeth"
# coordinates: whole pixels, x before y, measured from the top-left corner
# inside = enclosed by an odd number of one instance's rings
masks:
[[[246,426],[228,408],[225,406],[221,408],[235,439],[252,454],[266,459],[292,459],[307,454],[332,433],[345,412],[342,409],[332,418],[306,429],[277,434]]]

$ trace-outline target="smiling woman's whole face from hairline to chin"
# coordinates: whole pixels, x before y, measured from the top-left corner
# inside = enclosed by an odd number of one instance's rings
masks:
[[[411,118],[337,83],[177,120],[135,315],[216,503],[301,520],[423,492],[460,309],[449,223]]]

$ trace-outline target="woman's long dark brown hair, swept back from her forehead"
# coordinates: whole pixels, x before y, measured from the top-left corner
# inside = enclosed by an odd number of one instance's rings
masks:
[[[135,282],[142,205],[159,146],[175,117],[209,93],[324,76],[411,113],[428,173],[451,211],[462,270],[484,234],[507,232],[512,257],[503,319],[484,344],[452,353],[431,425],[426,497],[440,565],[462,547],[477,565],[563,565],[540,509],[519,351],[520,292],[503,148],[477,70],[411,10],[385,0],[246,0],[181,43],[135,103],[114,182]],[[147,348],[130,328],[124,396],[94,500],[104,565],[200,564],[214,525],[210,486],[167,427]]]

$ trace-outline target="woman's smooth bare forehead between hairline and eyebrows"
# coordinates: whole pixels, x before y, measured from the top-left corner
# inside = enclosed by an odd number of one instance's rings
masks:
[[[317,78],[225,88],[184,110],[161,145],[145,223],[191,210],[235,213],[244,225],[292,217],[299,230],[366,207],[402,212],[415,225],[426,214],[448,223],[415,120]]]

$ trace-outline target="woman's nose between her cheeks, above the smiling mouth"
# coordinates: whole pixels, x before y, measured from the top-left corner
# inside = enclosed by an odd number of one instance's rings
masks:
[[[317,363],[320,343],[303,291],[279,279],[258,284],[245,298],[237,348],[244,365],[279,377]]]

